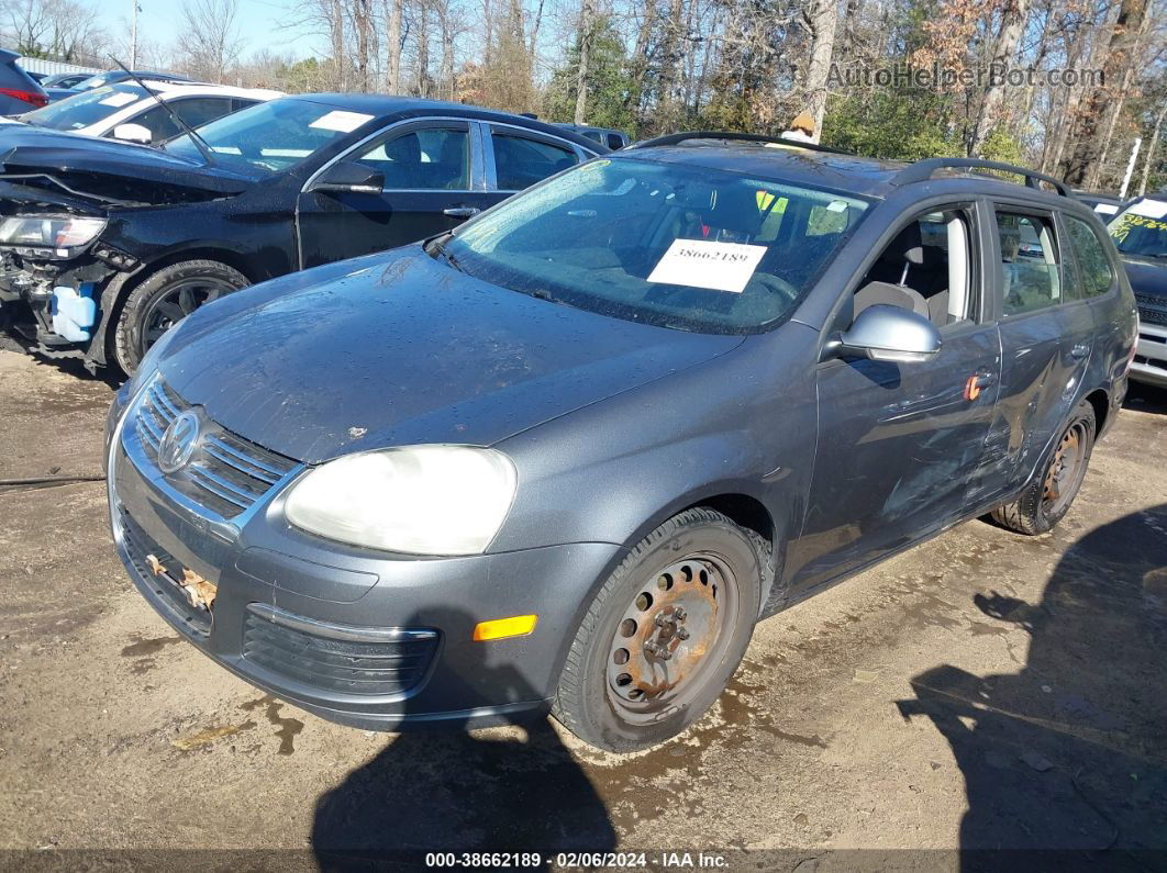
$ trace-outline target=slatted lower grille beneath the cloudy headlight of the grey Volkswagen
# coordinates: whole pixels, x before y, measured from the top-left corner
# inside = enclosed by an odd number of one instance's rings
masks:
[[[302,628],[280,624],[282,613],[252,604],[243,626],[243,656],[272,673],[316,689],[349,695],[398,695],[426,675],[438,649],[435,631],[340,628],[289,617]],[[324,636],[322,634],[329,634]],[[363,641],[363,634],[383,640]],[[348,639],[345,639],[348,638]]]

